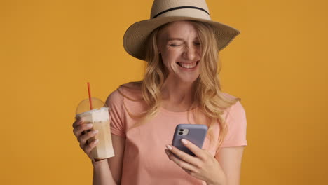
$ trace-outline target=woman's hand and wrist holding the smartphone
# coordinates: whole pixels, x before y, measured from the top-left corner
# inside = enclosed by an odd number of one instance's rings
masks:
[[[192,177],[206,181],[207,185],[226,184],[226,175],[217,159],[210,152],[200,149],[186,139],[182,139],[182,143],[196,156],[190,156],[188,153],[168,144],[166,145],[168,149],[165,150],[165,153],[170,160],[182,167]],[[179,158],[173,155],[173,153]]]

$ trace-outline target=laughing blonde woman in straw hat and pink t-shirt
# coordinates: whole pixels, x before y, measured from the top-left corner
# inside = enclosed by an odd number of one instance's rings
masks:
[[[151,19],[124,35],[125,50],[147,62],[144,80],[121,85],[107,98],[115,157],[95,161],[81,119],[74,135],[92,159],[93,184],[239,184],[246,119],[242,105],[221,93],[218,52],[239,32],[210,20],[205,1],[157,0]],[[209,127],[196,156],[170,145],[180,123]],[[175,154],[175,155],[173,155]],[[178,158],[177,158],[177,157]]]

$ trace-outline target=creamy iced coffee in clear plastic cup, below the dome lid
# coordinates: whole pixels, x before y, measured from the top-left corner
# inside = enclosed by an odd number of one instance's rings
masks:
[[[92,123],[93,128],[91,130],[98,130],[97,135],[88,140],[88,143],[93,142],[95,139],[99,140],[97,146],[91,151],[93,158],[102,160],[113,157],[114,149],[111,143],[109,109],[107,107],[101,107],[77,114],[76,117],[83,118],[84,123]]]

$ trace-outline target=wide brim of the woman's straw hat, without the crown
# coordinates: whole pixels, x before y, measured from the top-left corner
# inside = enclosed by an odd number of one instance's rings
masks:
[[[176,20],[198,20],[200,22],[207,22],[212,25],[219,50],[222,50],[228,46],[228,44],[231,43],[235,36],[240,34],[238,29],[224,25],[220,22],[214,22],[212,20],[178,16],[153,18],[150,20],[135,22],[135,24],[131,25],[126,30],[123,36],[124,49],[126,52],[132,55],[132,57],[136,57],[140,60],[145,60],[146,41],[151,32],[153,32],[154,29],[160,27],[161,25],[165,25],[168,22],[173,22]]]

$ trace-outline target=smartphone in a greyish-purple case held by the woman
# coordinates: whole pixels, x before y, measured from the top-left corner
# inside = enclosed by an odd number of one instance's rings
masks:
[[[192,153],[186,146],[184,146],[184,144],[182,144],[181,139],[187,139],[193,144],[196,144],[201,149],[203,147],[206,134],[207,125],[179,124],[175,128],[172,145],[191,156],[195,156],[194,153]]]

